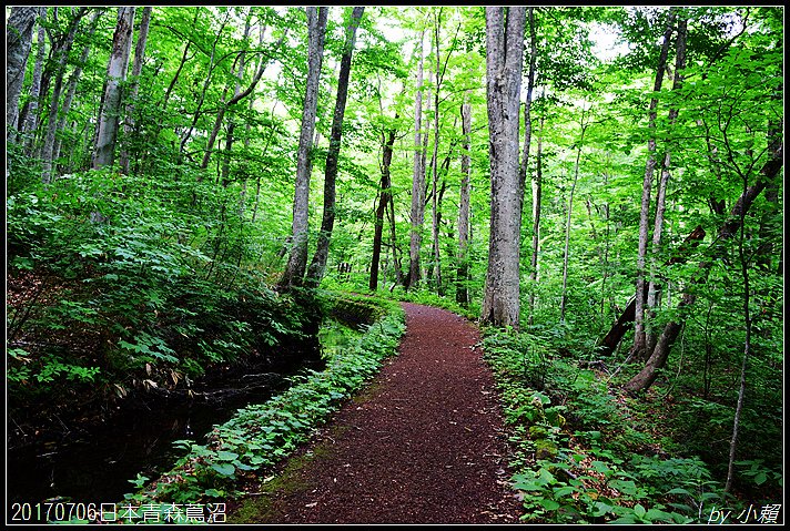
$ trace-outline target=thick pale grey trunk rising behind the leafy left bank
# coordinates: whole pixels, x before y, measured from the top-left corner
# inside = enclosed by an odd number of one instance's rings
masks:
[[[118,25],[112,38],[112,53],[107,65],[104,103],[99,116],[99,134],[93,154],[93,170],[112,164],[121,113],[121,83],[126,79],[134,25],[133,7],[118,9]]]

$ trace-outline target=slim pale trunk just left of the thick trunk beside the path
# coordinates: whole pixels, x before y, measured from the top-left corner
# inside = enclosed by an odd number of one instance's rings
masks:
[[[469,91],[460,105],[460,129],[464,135],[460,155],[460,198],[458,202],[458,269],[456,273],[455,300],[466,307],[469,304],[469,200],[472,196],[472,104]]]

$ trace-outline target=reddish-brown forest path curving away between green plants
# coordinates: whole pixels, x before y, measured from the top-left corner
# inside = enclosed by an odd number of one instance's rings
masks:
[[[505,432],[479,331],[403,303],[406,334],[362,397],[290,460],[245,523],[514,523]],[[252,521],[251,521],[252,520]]]

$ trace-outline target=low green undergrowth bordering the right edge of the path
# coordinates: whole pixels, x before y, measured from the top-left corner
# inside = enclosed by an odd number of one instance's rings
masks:
[[[526,523],[708,523],[742,512],[708,466],[650,429],[634,399],[564,359],[550,338],[487,330]]]

